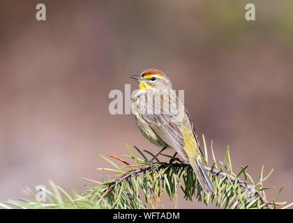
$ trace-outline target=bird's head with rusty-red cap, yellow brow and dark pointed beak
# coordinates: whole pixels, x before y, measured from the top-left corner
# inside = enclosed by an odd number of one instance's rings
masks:
[[[129,77],[137,79],[141,91],[172,89],[170,79],[160,70],[148,69],[140,75],[130,75]]]

